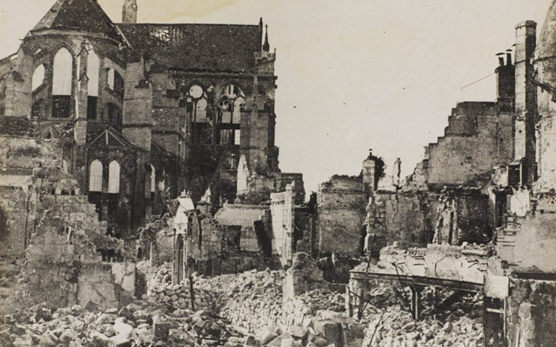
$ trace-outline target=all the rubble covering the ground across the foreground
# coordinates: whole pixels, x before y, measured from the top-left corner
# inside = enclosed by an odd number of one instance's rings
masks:
[[[341,326],[364,330],[363,346],[482,346],[480,296],[414,321],[395,287],[377,285],[360,321],[344,312],[344,296],[313,289],[282,303],[284,271],[192,276],[172,285],[169,264],[147,269],[143,300],[101,310],[97,305],[51,310],[35,305],[6,316],[1,346],[355,346]],[[398,293],[398,294],[397,294]],[[432,291],[423,301],[432,303]],[[370,339],[373,339],[370,342]]]

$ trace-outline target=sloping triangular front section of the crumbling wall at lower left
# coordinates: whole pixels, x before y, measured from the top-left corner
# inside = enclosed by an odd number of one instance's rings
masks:
[[[27,191],[15,192],[30,200],[28,210],[17,212],[26,218],[29,232],[26,264],[13,282],[4,312],[41,302],[51,307],[89,301],[117,307],[133,296],[135,263],[103,262],[97,251],[122,256],[123,241],[105,236],[106,222],[100,222],[95,205],[79,195],[75,180],[56,169],[40,169]]]

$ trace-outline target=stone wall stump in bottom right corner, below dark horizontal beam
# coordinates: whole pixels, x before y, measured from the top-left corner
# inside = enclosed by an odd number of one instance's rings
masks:
[[[508,346],[556,345],[556,282],[510,278]]]

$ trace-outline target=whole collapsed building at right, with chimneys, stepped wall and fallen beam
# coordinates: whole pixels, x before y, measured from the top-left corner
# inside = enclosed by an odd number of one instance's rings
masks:
[[[350,314],[375,280],[411,288],[414,319],[425,287],[452,290],[443,307],[482,293],[484,346],[556,343],[556,1],[538,44],[536,26],[516,25],[513,61],[499,55],[496,101],[459,103],[414,173],[370,194],[365,242],[378,263],[351,271]]]

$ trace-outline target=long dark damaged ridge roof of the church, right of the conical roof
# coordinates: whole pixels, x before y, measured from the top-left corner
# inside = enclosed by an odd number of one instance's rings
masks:
[[[116,24],[134,50],[157,65],[188,71],[252,71],[258,25]]]

